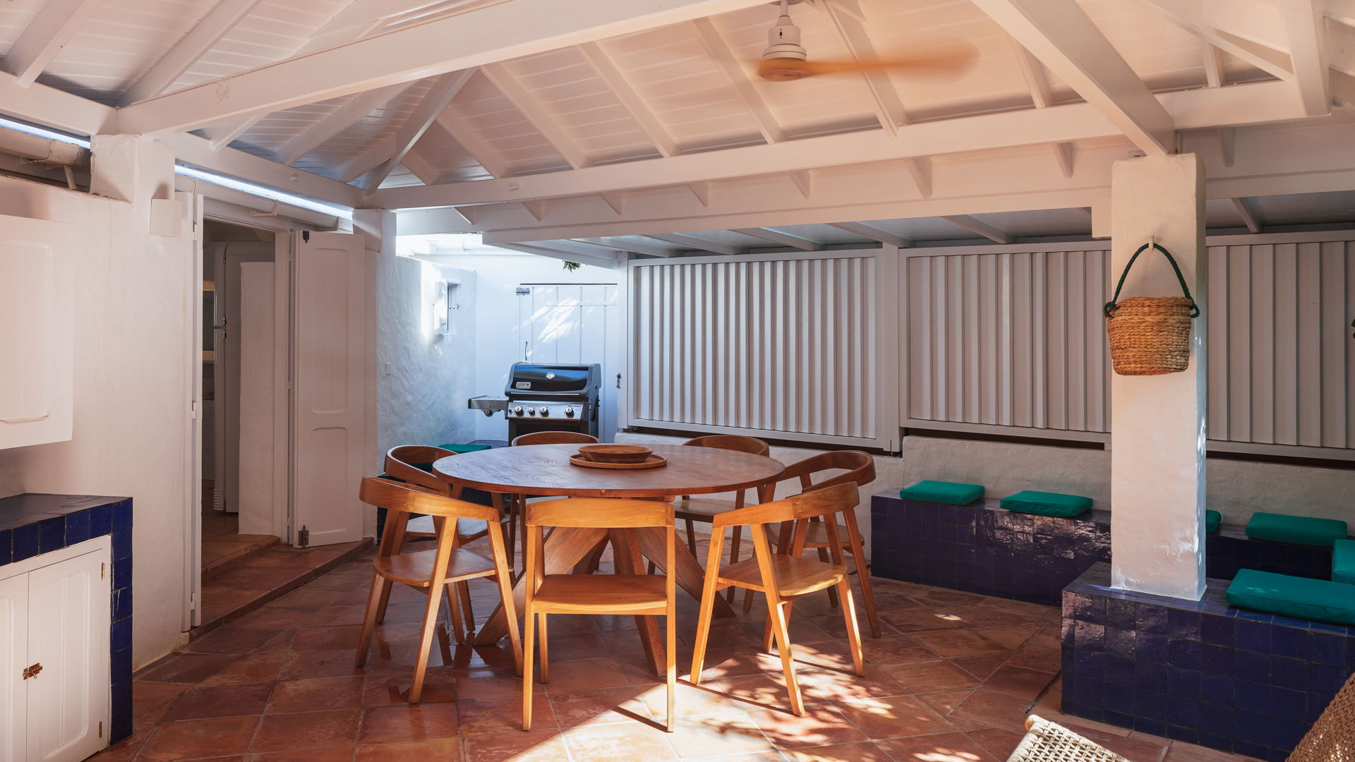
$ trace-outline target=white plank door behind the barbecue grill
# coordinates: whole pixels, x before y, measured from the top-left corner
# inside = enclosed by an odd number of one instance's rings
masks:
[[[617,373],[621,372],[623,320],[619,292],[615,283],[522,286],[518,292],[523,359],[602,365],[598,438],[603,442],[611,442],[617,434]]]

